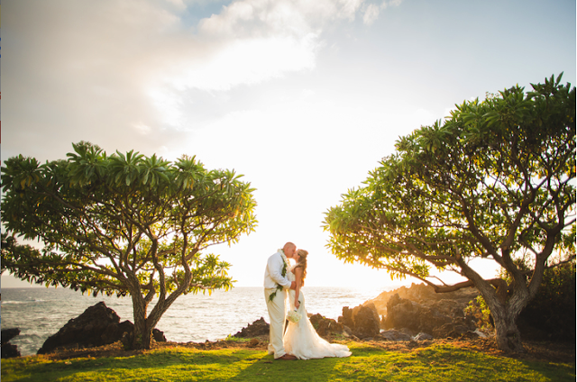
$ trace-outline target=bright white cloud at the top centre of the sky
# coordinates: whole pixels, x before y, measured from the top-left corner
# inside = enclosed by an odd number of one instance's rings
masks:
[[[199,66],[180,71],[177,86],[226,90],[315,67],[325,24],[353,20],[362,0],[243,0],[201,20],[198,38],[219,46]]]

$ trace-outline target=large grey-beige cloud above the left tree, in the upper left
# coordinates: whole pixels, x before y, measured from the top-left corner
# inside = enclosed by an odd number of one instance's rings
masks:
[[[3,11],[8,55],[2,64],[10,73],[3,78],[9,95],[3,106],[11,126],[3,132],[3,154],[32,150],[42,160],[55,159],[49,152],[67,152],[71,141],[101,144],[109,137],[121,145],[113,151],[156,149],[163,121],[145,89],[159,76],[179,17],[159,4],[130,0],[14,2]],[[135,121],[151,132],[133,134]]]

